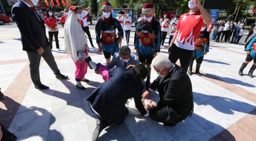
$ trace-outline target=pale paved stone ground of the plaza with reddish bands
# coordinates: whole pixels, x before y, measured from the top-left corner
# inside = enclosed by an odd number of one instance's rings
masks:
[[[75,66],[64,51],[52,53],[61,73],[69,80],[58,80],[41,60],[40,76],[49,90],[33,87],[29,61],[22,51],[17,27],[0,27],[0,87],[6,95],[0,101],[0,122],[9,128],[18,141],[90,141],[96,117],[85,100],[98,87],[102,78],[88,69],[83,83],[87,90],[75,87]],[[95,31],[91,30],[93,42]],[[60,48],[63,29],[59,29]],[[130,43],[133,43],[131,33]],[[167,40],[165,45],[167,45]],[[125,44],[125,40],[123,40]],[[55,42],[53,42],[55,47]],[[134,46],[130,46],[134,52]],[[193,84],[195,110],[191,118],[175,127],[165,127],[150,117],[128,115],[122,125],[102,131],[99,141],[252,141],[256,138],[256,78],[239,76],[245,60],[243,45],[212,42],[202,63],[202,77],[190,76]],[[104,56],[91,49],[93,61],[104,63]],[[168,56],[167,47],[161,54]],[[252,63],[244,73],[249,71]],[[194,69],[195,70],[195,69]],[[194,71],[193,70],[193,71]],[[255,73],[254,73],[255,74]],[[157,77],[151,72],[151,82]],[[150,95],[158,101],[158,92]]]

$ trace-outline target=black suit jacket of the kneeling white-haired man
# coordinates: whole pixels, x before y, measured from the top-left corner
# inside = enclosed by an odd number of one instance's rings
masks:
[[[177,121],[170,121],[170,123],[183,121],[189,114],[192,114],[194,107],[190,78],[180,66],[174,65],[175,67],[167,77],[159,76],[150,86],[152,90],[158,89],[160,96],[158,106],[167,108],[169,114],[167,121],[173,119],[172,112],[179,115]]]

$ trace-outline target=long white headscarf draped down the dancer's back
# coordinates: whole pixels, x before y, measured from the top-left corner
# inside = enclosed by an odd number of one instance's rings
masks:
[[[89,50],[82,25],[78,23],[75,13],[71,10],[64,25],[63,44],[65,52],[72,56],[74,62],[78,60],[77,52],[82,51],[84,48]]]

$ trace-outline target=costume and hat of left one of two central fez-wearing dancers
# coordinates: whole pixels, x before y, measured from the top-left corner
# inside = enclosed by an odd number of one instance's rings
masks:
[[[108,2],[102,4],[102,10],[104,9],[112,10]],[[119,36],[124,36],[119,21],[116,18],[112,18],[112,14],[110,14],[109,18],[100,17],[95,27],[96,42],[100,43],[106,59],[109,59],[115,52],[119,51],[119,44],[117,43],[119,38],[117,38],[117,34],[115,33],[116,28],[119,31]]]

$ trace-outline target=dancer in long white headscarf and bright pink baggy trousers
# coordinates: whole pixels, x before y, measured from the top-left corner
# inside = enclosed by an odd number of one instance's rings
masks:
[[[85,80],[84,76],[87,72],[87,59],[89,47],[87,45],[87,39],[83,32],[82,25],[80,24],[76,13],[74,12],[76,6],[70,6],[69,16],[64,26],[64,47],[65,52],[69,54],[75,65],[75,79],[77,81],[76,87],[85,90],[86,88],[82,86],[81,81]],[[78,60],[82,60],[80,63]]]

